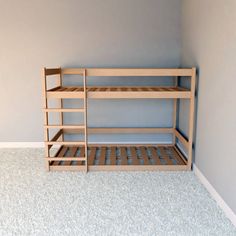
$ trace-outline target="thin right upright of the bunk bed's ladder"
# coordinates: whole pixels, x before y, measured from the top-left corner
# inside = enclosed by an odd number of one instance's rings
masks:
[[[87,138],[87,85],[86,85],[86,70],[83,72],[83,84],[84,84],[84,154],[85,154],[85,168],[88,172],[88,138]]]

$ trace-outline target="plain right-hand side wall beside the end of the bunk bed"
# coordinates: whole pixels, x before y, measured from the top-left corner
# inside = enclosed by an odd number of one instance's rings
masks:
[[[199,73],[195,164],[234,212],[235,12],[235,0],[183,0],[182,64]]]

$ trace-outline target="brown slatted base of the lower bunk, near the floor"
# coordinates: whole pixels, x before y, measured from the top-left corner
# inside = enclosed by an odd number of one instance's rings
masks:
[[[49,160],[49,159],[48,159]],[[50,159],[50,170],[86,170],[83,146],[62,146]],[[188,170],[173,145],[89,146],[89,171]]]

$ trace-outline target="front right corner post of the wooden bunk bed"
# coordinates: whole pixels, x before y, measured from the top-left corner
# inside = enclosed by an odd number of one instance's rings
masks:
[[[191,170],[191,168],[192,168],[195,84],[196,84],[196,68],[192,68],[191,97],[190,97],[190,104],[189,104],[189,128],[188,128],[188,142],[189,142],[189,147],[188,147],[188,170]]]

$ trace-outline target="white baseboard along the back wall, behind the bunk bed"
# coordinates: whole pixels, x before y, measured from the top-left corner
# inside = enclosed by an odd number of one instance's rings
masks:
[[[89,144],[162,144],[161,142],[89,142]],[[165,143],[171,144],[171,142]],[[0,142],[0,148],[43,148],[44,142]]]

